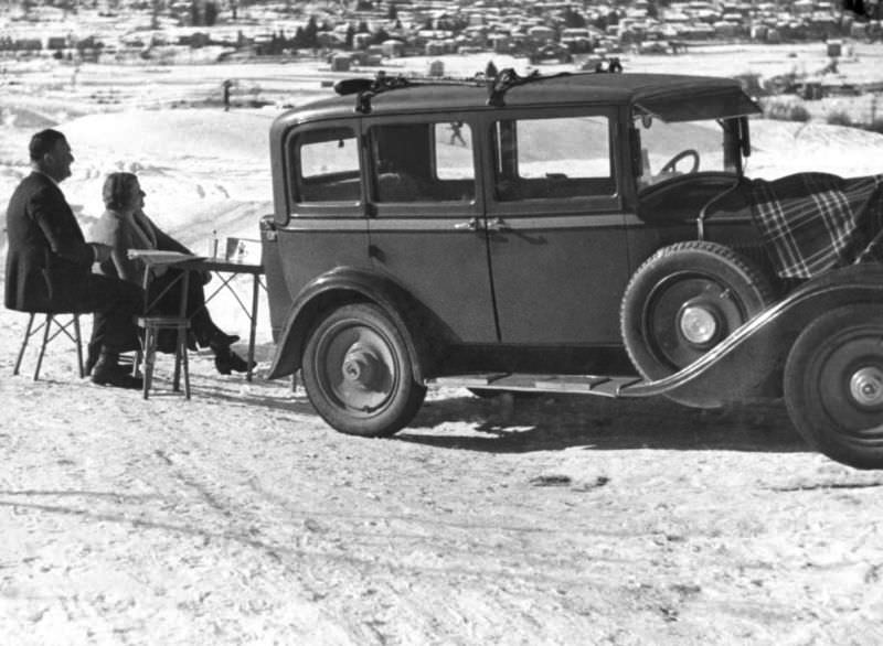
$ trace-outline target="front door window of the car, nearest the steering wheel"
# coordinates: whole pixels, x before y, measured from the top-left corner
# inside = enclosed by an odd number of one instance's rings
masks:
[[[499,201],[616,193],[607,117],[501,120],[494,123],[493,139]]]

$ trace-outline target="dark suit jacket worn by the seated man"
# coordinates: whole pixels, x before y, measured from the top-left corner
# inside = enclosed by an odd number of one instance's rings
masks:
[[[25,312],[75,311],[95,258],[64,194],[33,172],[7,209],[4,304]]]

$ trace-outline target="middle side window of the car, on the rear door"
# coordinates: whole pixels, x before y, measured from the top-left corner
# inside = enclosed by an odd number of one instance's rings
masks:
[[[471,128],[464,121],[369,128],[376,202],[459,202],[475,197]]]

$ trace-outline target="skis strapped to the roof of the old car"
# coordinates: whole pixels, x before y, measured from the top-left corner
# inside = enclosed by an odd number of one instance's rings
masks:
[[[334,91],[340,96],[354,94],[355,96],[355,111],[368,115],[371,112],[371,99],[379,94],[392,91],[395,89],[403,89],[406,87],[415,87],[421,85],[462,85],[488,88],[487,105],[493,107],[502,107],[506,105],[503,98],[506,93],[511,88],[519,85],[524,85],[535,80],[544,80],[547,78],[558,78],[561,76],[570,76],[570,72],[561,72],[551,76],[543,76],[539,69],[534,69],[525,76],[521,76],[512,67],[501,69],[497,76],[492,78],[485,78],[483,76],[476,76],[475,78],[422,78],[422,77],[405,77],[405,76],[386,76],[382,69],[377,72],[374,78],[344,78],[334,84]]]

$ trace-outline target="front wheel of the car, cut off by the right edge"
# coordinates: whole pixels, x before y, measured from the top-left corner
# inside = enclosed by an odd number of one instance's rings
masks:
[[[797,431],[831,460],[883,469],[883,308],[847,305],[816,319],[785,364]]]

